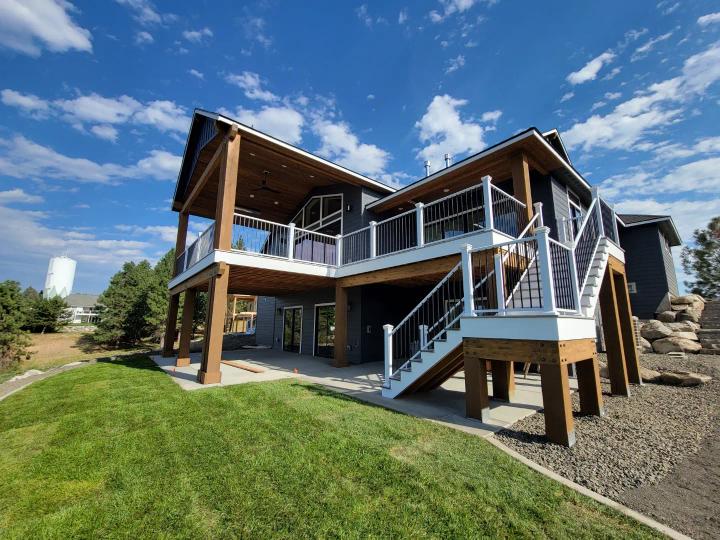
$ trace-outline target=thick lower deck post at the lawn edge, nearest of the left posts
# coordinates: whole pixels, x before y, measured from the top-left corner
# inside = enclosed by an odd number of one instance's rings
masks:
[[[218,263],[217,275],[210,278],[208,286],[207,319],[202,364],[198,381],[203,384],[220,382],[220,360],[222,359],[222,337],[227,311],[227,289],[230,270],[225,263]]]

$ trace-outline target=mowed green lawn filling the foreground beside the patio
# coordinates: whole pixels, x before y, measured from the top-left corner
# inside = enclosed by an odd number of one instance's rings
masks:
[[[296,381],[185,392],[135,356],[0,402],[0,536],[653,533],[476,437]]]

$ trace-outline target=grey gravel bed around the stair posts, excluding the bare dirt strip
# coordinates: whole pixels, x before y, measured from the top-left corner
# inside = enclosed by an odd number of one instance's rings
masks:
[[[650,369],[696,371],[713,380],[691,388],[632,386],[629,399],[610,396],[610,385],[603,381],[603,418],[580,416],[573,394],[577,443],[572,448],[546,442],[542,412],[496,436],[536,463],[613,499],[659,482],[698,451],[720,418],[720,356],[644,354],[640,361]]]

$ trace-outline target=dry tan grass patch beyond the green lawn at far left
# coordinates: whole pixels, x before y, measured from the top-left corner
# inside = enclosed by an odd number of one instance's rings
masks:
[[[93,360],[109,355],[129,354],[147,348],[108,349],[93,342],[91,334],[82,332],[58,332],[55,334],[30,334],[32,354],[29,360],[11,369],[0,371],[0,383],[29,369],[46,371],[70,362]]]

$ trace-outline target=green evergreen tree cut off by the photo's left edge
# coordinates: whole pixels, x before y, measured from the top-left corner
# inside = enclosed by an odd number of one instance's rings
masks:
[[[0,282],[0,368],[29,358],[30,340],[22,330],[25,324],[24,298],[17,281]]]

